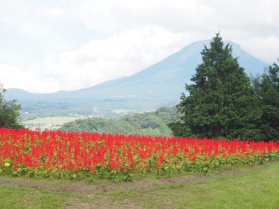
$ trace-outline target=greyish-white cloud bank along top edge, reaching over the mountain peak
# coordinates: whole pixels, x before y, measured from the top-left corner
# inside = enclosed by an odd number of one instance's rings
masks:
[[[97,31],[156,25],[172,33],[191,32],[204,38],[221,31],[225,39],[247,46],[259,59],[274,61],[278,57],[278,10],[278,0],[84,0],[73,13]]]

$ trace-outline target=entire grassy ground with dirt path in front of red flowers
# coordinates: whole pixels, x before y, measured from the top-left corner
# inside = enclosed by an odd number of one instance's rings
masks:
[[[274,161],[130,183],[1,176],[0,208],[279,208],[278,173]]]

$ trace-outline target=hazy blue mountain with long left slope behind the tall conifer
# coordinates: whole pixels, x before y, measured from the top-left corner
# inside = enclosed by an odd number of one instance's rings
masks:
[[[89,88],[56,93],[29,93],[10,88],[5,98],[16,98],[24,111],[55,110],[61,114],[91,114],[92,108],[97,109],[99,114],[116,109],[144,111],[174,105],[185,91],[185,84],[195,74],[195,68],[202,62],[200,52],[209,43],[210,40],[194,42],[135,75]],[[239,64],[248,75],[261,74],[269,65],[245,52],[235,42],[229,43],[233,47],[233,56],[239,57]]]

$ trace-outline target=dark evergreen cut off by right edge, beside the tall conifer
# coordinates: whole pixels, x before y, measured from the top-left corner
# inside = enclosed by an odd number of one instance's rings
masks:
[[[278,59],[279,63],[279,59]],[[264,75],[253,81],[255,94],[262,109],[259,128],[266,140],[279,139],[279,65],[273,63]]]

